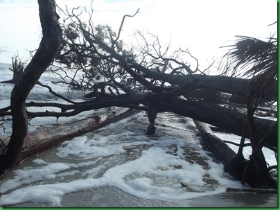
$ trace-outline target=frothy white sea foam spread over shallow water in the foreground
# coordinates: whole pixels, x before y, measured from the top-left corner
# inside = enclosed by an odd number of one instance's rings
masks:
[[[124,132],[119,134],[119,137],[128,135]],[[77,137],[73,141],[67,141],[64,145],[58,148],[58,155],[67,157],[68,155],[77,155],[84,159],[87,155],[89,157],[105,157],[109,154],[116,155],[116,152],[124,152],[121,149],[123,146],[128,146],[128,143],[117,144],[118,135],[111,135],[111,138],[102,139],[100,144],[98,135],[94,135],[93,139],[87,137]],[[108,142],[111,142],[108,143]],[[90,163],[78,164],[64,164],[64,163],[47,163],[42,159],[35,159],[35,168],[24,168],[15,170],[15,176],[3,182],[1,189],[3,196],[0,200],[0,205],[17,204],[21,202],[36,202],[46,203],[52,206],[59,207],[62,195],[74,191],[85,189],[92,189],[100,186],[116,186],[117,188],[145,199],[156,200],[184,200],[196,198],[202,195],[209,195],[225,191],[228,184],[240,186],[240,184],[227,180],[223,177],[222,166],[215,164],[211,158],[208,157],[208,164],[210,169],[205,170],[199,164],[193,164],[179,155],[168,154],[166,146],[177,145],[178,148],[184,145],[181,139],[172,139],[163,137],[161,141],[136,141],[137,143],[150,144],[150,148],[141,152],[141,157],[133,161],[125,161],[105,170],[105,173],[100,178],[94,178],[92,173],[98,173],[104,167],[89,168],[83,173],[87,173],[88,177],[85,179],[77,179],[70,182],[63,182],[67,175],[79,173],[75,168],[82,166],[92,166],[96,161]],[[132,141],[131,145],[135,142]],[[136,144],[137,145],[137,144]],[[114,148],[116,147],[116,148]],[[195,148],[196,146],[193,145]],[[85,150],[87,148],[87,150]],[[111,148],[111,150],[109,149]],[[84,151],[83,153],[81,151]],[[92,154],[94,155],[92,155]],[[182,153],[182,152],[181,152]],[[203,153],[203,151],[202,151]],[[44,166],[42,166],[42,164]],[[177,168],[177,166],[180,166]],[[69,171],[69,172],[67,172]],[[203,181],[205,173],[208,173],[212,179],[217,180],[216,188],[207,187]],[[44,184],[46,180],[53,180],[53,184]],[[61,180],[60,182],[58,182]],[[224,183],[223,180],[227,180]],[[39,182],[40,181],[40,182]],[[180,182],[188,183],[189,189],[181,186]],[[222,184],[221,184],[222,183]],[[14,190],[12,190],[14,189]],[[7,192],[7,193],[5,193]]]

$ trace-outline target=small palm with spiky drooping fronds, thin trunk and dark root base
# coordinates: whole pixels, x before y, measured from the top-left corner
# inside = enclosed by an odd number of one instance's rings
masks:
[[[225,55],[231,61],[222,73],[231,73],[231,76],[252,78],[250,91],[247,93],[247,122],[244,132],[250,134],[252,155],[243,168],[243,182],[256,188],[277,188],[277,183],[270,177],[262,148],[265,139],[269,138],[272,129],[277,129],[277,122],[268,130],[264,137],[256,136],[254,127],[254,112],[261,102],[265,90],[271,84],[277,84],[277,38],[273,36],[267,41],[254,37],[237,36],[237,42],[231,45],[232,49]],[[241,138],[240,147],[234,161],[244,160],[243,146],[245,137]],[[274,150],[277,154],[277,148]]]

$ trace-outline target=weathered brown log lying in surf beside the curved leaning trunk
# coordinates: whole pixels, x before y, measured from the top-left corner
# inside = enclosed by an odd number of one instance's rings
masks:
[[[52,148],[53,146],[57,146],[63,141],[79,137],[87,132],[92,132],[110,123],[125,119],[136,112],[137,110],[128,108],[115,108],[113,111],[98,116],[90,116],[86,119],[63,123],[62,125],[53,125],[51,128],[28,132],[24,139],[24,146],[21,150],[21,154],[17,159],[17,164],[27,157]],[[1,137],[1,139],[6,139],[6,144],[9,141],[9,137]]]

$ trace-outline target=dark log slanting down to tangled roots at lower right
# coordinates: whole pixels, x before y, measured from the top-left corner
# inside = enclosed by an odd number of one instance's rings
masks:
[[[222,139],[218,138],[206,123],[199,121],[193,122],[195,123],[196,128],[198,128],[204,146],[207,147],[218,161],[224,164],[225,172],[229,173],[229,175],[237,180],[240,180],[243,184],[247,182],[247,184],[253,188],[277,189],[277,182],[268,176],[268,171],[265,174],[261,168],[256,170],[256,167],[260,167],[260,165],[263,164],[263,161],[265,164],[263,152],[260,152],[261,155],[253,152],[250,159],[247,160],[243,155],[236,155],[236,152],[231,150]]]

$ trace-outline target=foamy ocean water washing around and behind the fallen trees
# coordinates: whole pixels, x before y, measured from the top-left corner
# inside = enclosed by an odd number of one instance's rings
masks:
[[[0,80],[12,77],[7,67],[0,64]],[[46,72],[40,81],[80,100],[82,93],[51,84],[53,79]],[[0,84],[0,107],[9,104],[12,87]],[[61,101],[37,85],[28,100]],[[58,121],[88,114],[98,110]],[[30,130],[58,121],[35,118]],[[202,148],[191,119],[159,113],[155,125],[156,133],[146,136],[148,116],[140,112],[26,159],[0,177],[0,207],[189,207],[192,199],[223,193],[227,187],[246,187],[224,173],[222,164]],[[5,126],[0,135],[10,134],[9,123]],[[233,134],[218,136],[240,140]],[[270,150],[265,156],[270,164],[276,163]]]

